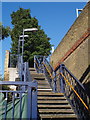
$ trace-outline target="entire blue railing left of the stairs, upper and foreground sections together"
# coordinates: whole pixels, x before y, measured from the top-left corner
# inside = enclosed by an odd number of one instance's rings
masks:
[[[15,63],[13,62],[14,57]],[[4,95],[0,117],[5,120],[7,118],[37,120],[37,82],[32,81],[28,62],[23,62],[22,56],[12,54],[8,67],[17,69],[19,81],[0,81],[0,86],[16,86],[15,90],[0,90],[0,93]]]

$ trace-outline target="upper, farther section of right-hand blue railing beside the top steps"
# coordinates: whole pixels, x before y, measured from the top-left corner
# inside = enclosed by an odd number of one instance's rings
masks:
[[[52,66],[49,64],[47,57],[42,55],[35,55],[34,56],[34,68],[36,68],[38,73],[44,73],[48,79],[48,82],[53,89],[56,91],[55,88],[55,79],[52,79],[54,75],[54,70]]]

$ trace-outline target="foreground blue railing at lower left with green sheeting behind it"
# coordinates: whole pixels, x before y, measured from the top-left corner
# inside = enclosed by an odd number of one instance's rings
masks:
[[[11,82],[0,81],[0,85],[14,85],[18,90],[0,90],[2,101],[0,102],[1,119],[28,118],[37,120],[37,82]],[[26,86],[22,90],[21,86]]]

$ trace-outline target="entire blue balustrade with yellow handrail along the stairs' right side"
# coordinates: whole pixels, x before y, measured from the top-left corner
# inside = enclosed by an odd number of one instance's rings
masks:
[[[42,57],[42,62],[39,59]],[[82,83],[65,67],[61,64],[56,70],[53,70],[46,57],[35,56],[34,67],[39,71],[43,66],[43,73],[45,73],[54,92],[64,93],[69,103],[72,105],[75,113],[80,120],[88,120],[90,118],[90,97]]]

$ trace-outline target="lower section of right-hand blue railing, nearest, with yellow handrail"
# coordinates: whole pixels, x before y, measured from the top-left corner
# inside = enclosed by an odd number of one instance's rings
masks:
[[[57,76],[57,91],[65,94],[80,120],[88,120],[90,118],[90,98],[84,86],[64,64],[58,66],[55,74]]]

